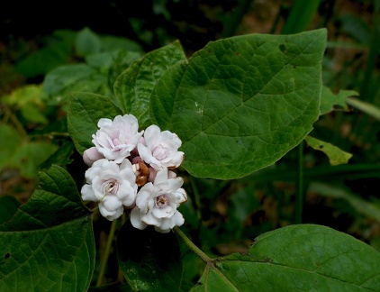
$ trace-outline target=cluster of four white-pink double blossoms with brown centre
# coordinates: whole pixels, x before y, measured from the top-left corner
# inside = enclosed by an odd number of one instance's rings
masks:
[[[187,200],[184,180],[169,170],[184,160],[178,136],[154,124],[139,132],[132,114],[100,119],[97,126],[95,146],[83,154],[90,168],[82,198],[99,202],[100,213],[111,221],[131,210],[131,224],[141,230],[154,225],[158,232],[168,233],[184,224],[176,210]]]

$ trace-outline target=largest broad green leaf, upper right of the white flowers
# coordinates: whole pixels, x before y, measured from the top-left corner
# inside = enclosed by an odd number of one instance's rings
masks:
[[[150,116],[178,134],[195,177],[247,176],[312,131],[325,44],[324,29],[210,42],[159,79]]]

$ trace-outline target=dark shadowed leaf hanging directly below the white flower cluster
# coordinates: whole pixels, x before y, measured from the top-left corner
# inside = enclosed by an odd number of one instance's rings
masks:
[[[176,236],[149,227],[140,231],[130,222],[122,226],[117,235],[119,267],[134,291],[177,291],[183,270]]]

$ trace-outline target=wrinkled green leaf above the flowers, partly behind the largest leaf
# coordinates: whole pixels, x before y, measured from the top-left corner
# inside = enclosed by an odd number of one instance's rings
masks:
[[[141,127],[150,124],[149,100],[158,79],[178,62],[185,61],[179,41],[153,50],[131,64],[116,79],[114,94],[122,104],[125,114],[134,114]]]

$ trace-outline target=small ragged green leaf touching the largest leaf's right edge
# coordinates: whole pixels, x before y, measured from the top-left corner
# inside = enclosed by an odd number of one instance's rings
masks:
[[[348,96],[358,96],[359,94],[354,90],[339,90],[338,94],[333,94],[329,87],[322,87],[321,91],[321,115],[329,114],[336,109],[336,105],[340,106],[343,110],[348,110],[347,99]],[[335,105],[335,106],[334,106]]]

